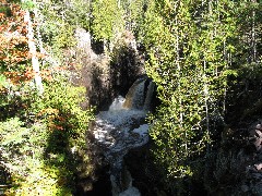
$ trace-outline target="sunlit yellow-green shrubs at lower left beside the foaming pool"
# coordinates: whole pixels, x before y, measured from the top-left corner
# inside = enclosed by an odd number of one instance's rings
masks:
[[[41,96],[20,93],[24,111],[0,122],[0,167],[12,175],[8,194],[69,195],[78,174],[93,169],[85,140],[93,111],[80,107],[84,90],[58,79]]]

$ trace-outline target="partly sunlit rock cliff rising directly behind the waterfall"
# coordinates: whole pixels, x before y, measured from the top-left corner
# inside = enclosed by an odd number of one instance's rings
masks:
[[[118,95],[126,95],[129,87],[143,74],[143,66],[135,48],[133,36],[119,37],[112,50],[114,58],[92,50],[90,33],[75,30],[76,47],[68,51],[72,66],[72,81],[86,87],[88,102],[83,107],[96,106],[107,110]]]

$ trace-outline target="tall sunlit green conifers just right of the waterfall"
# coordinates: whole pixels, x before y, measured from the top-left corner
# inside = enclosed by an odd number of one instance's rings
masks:
[[[225,0],[150,3],[141,39],[162,100],[150,134],[167,176],[192,175],[192,160],[211,143],[214,117],[223,115],[233,13]]]

